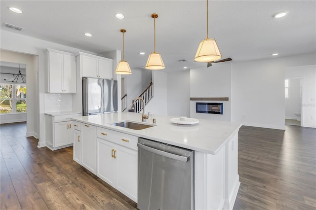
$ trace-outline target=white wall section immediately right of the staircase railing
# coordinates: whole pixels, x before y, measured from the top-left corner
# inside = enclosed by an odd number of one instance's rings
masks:
[[[153,70],[154,97],[145,107],[150,114],[167,115],[167,73]]]

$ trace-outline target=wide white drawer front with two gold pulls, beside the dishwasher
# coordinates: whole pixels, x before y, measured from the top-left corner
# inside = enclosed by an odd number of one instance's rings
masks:
[[[137,151],[138,137],[97,127],[97,137]]]

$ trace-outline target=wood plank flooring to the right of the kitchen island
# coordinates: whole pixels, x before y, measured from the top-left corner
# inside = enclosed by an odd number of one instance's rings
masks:
[[[242,126],[235,210],[316,210],[316,129]]]

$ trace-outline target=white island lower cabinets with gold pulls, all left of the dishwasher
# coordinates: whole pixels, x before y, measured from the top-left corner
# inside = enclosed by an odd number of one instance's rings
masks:
[[[73,134],[74,160],[137,202],[138,137],[85,123],[80,128]]]

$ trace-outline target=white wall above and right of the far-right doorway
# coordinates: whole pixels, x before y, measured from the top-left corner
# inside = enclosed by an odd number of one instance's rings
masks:
[[[298,77],[302,78],[302,126],[316,128],[316,65],[285,69],[285,78]]]

